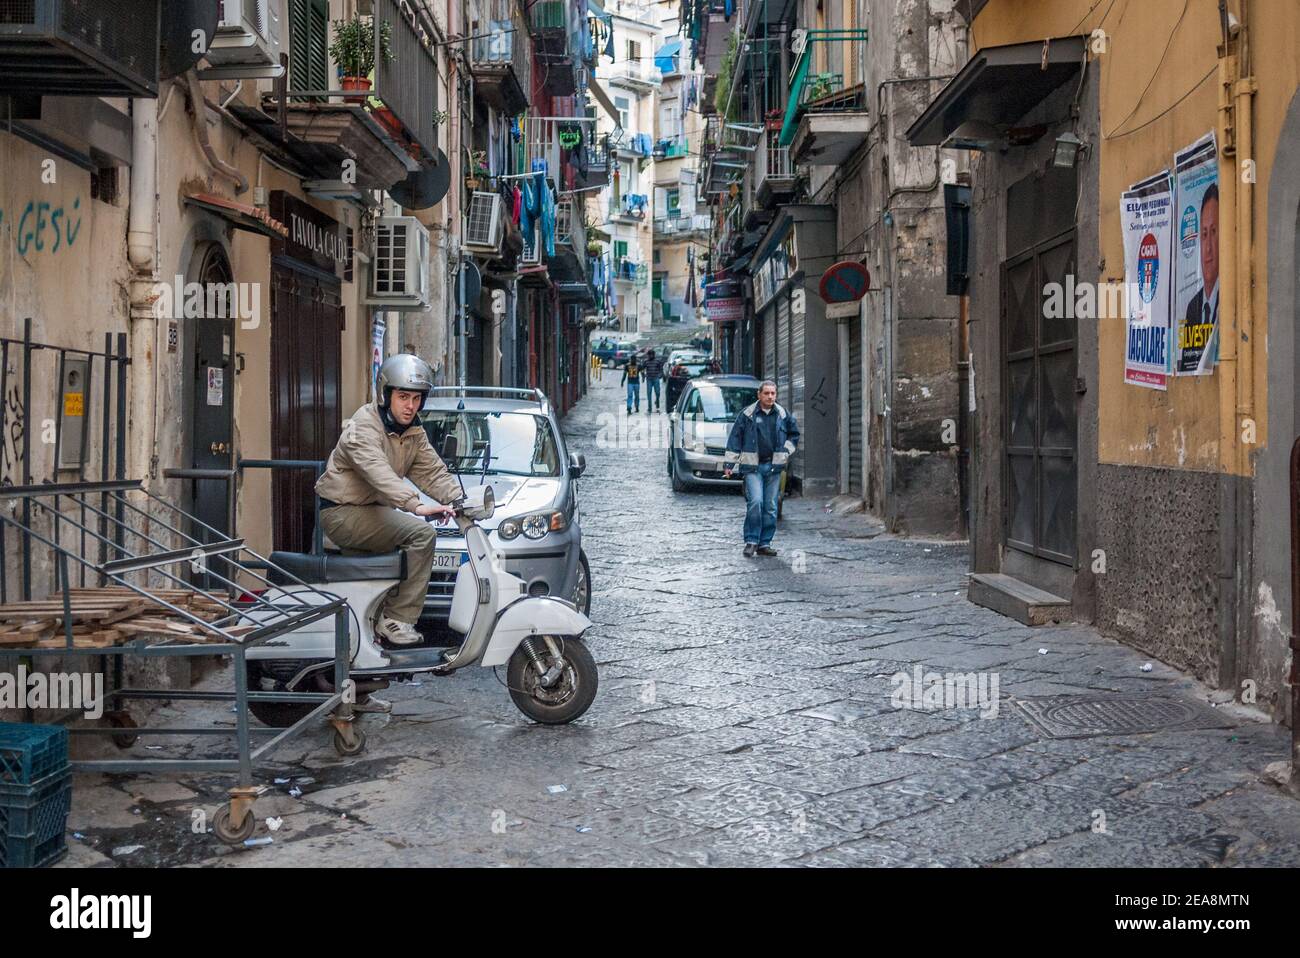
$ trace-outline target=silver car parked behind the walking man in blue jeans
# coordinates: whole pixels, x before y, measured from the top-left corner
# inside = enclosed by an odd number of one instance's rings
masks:
[[[727,437],[736,416],[758,400],[753,376],[692,380],[668,416],[668,477],[673,491],[692,486],[738,486],[740,473],[723,478]]]

